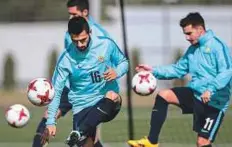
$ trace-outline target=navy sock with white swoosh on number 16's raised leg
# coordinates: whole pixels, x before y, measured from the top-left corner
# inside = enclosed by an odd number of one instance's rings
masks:
[[[116,104],[114,101],[103,98],[90,110],[85,120],[80,124],[79,131],[82,134],[86,134],[91,129],[96,128],[97,125],[104,122],[111,115],[115,107]]]

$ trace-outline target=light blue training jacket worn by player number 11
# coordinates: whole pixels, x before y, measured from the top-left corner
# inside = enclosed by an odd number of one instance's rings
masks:
[[[155,67],[153,74],[158,79],[173,79],[189,73],[188,87],[195,97],[202,101],[201,95],[208,90],[212,94],[208,104],[225,111],[231,95],[231,61],[229,48],[208,30],[176,64]]]

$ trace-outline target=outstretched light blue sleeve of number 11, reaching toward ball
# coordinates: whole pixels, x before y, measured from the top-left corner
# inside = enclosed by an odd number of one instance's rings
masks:
[[[182,78],[189,72],[187,51],[175,64],[167,66],[157,66],[152,69],[152,73],[157,79]]]

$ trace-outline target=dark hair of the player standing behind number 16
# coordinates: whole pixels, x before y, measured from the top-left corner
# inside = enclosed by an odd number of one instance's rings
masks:
[[[68,0],[67,7],[77,6],[81,11],[84,9],[89,10],[89,1],[88,0]]]

